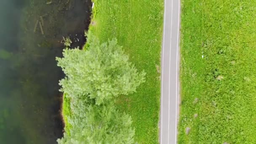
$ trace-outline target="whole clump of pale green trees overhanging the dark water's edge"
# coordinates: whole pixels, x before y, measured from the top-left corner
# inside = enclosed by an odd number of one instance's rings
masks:
[[[65,45],[69,47],[70,40]],[[138,72],[117,40],[100,44],[88,35],[86,50],[66,48],[56,58],[66,77],[61,91],[70,101],[69,133],[59,144],[131,144],[131,117],[115,108],[115,97],[136,91],[145,72]]]

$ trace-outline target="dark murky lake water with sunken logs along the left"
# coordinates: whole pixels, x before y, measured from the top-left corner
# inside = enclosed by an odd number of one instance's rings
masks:
[[[0,0],[0,144],[55,144],[63,134],[56,66],[62,37],[85,43],[90,0]]]

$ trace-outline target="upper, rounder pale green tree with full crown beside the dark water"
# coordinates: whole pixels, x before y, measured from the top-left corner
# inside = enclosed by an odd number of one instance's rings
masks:
[[[121,94],[135,92],[143,83],[145,72],[137,72],[117,40],[100,44],[88,36],[88,49],[64,49],[63,58],[56,58],[66,77],[60,81],[67,96],[89,96],[102,104]]]

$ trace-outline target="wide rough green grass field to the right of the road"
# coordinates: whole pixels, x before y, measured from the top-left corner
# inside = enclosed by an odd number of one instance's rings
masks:
[[[256,1],[182,0],[181,15],[179,143],[256,143]]]

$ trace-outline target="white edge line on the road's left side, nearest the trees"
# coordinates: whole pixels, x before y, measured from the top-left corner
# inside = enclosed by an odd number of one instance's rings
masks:
[[[165,5],[166,5],[166,0],[165,0]],[[165,6],[165,10],[166,10],[166,6]],[[165,11],[164,10],[164,11]],[[161,138],[160,138],[160,144],[162,143],[162,137],[163,137],[163,64],[164,64],[164,52],[165,52],[165,49],[164,49],[164,45],[165,45],[165,12],[164,12],[164,21],[163,21],[163,63],[162,63],[162,91],[161,91],[161,131],[160,131],[160,135],[161,135]]]

